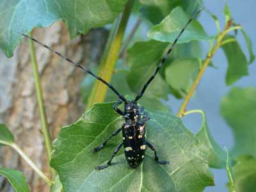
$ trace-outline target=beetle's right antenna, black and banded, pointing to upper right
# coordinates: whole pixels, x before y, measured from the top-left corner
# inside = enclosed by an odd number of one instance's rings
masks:
[[[200,10],[198,10],[186,23],[186,25],[184,26],[184,28],[180,31],[179,35],[177,36],[177,38],[174,40],[173,44],[170,46],[170,48],[168,49],[168,51],[166,52],[166,54],[164,54],[161,62],[159,63],[158,67],[156,68],[154,74],[148,79],[147,83],[144,84],[142,90],[140,93],[138,93],[138,95],[135,98],[135,101],[138,101],[142,96],[143,93],[145,92],[145,90],[147,89],[148,85],[151,83],[151,81],[155,78],[157,72],[159,72],[159,70],[161,69],[161,67],[163,66],[164,61],[166,60],[166,58],[169,56],[169,54],[172,52],[173,48],[175,47],[175,45],[177,44],[180,36],[182,35],[182,33],[185,31],[185,29],[188,27],[189,23],[195,19],[195,17],[197,15],[199,15],[200,12],[202,12],[202,10],[204,10],[204,7],[201,8]]]

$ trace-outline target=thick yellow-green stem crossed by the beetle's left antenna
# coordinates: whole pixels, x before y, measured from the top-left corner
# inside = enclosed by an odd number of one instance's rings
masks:
[[[102,77],[107,82],[111,81],[113,76],[113,71],[115,70],[115,64],[118,60],[118,53],[120,51],[120,47],[122,45],[122,41],[124,38],[125,29],[127,26],[127,22],[129,20],[129,16],[132,10],[134,0],[129,0],[125,5],[124,12],[122,13],[122,18],[118,24],[116,34],[106,49],[108,49],[108,54],[106,54],[106,59],[103,58],[100,63],[98,75]],[[114,25],[115,28],[115,25]],[[92,88],[92,93],[88,97],[88,102],[86,104],[86,111],[92,108],[93,103],[95,102],[104,102],[106,97],[106,93],[108,91],[108,87],[104,84],[100,83],[100,81],[95,81]]]

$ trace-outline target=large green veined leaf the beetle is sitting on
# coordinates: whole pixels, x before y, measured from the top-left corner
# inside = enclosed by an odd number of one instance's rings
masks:
[[[124,123],[112,105],[95,104],[76,124],[63,127],[54,141],[51,166],[58,171],[65,191],[194,192],[213,184],[195,136],[182,125],[180,118],[165,112],[149,113],[147,137],[159,157],[170,164],[157,164],[154,153],[148,149],[143,164],[136,169],[127,166],[120,152],[113,165],[96,171],[95,166],[105,163],[122,141],[120,134],[100,152],[92,154],[94,147]]]

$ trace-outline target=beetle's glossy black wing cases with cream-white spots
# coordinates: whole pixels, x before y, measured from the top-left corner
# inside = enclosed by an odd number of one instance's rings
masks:
[[[145,156],[145,123],[138,122],[135,125],[125,123],[122,128],[126,161],[131,168],[136,168]]]

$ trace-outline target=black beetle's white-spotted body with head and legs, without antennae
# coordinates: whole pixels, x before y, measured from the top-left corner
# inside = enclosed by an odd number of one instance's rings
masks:
[[[146,146],[154,150],[155,160],[160,164],[168,164],[168,161],[159,161],[157,152],[152,144],[146,141],[146,124],[150,118],[148,118],[147,113],[143,113],[144,108],[139,107],[135,100],[125,101],[124,104],[124,112],[117,108],[118,104],[121,104],[122,100],[118,100],[113,108],[117,113],[124,116],[125,123],[122,127],[115,132],[102,143],[99,147],[93,149],[93,152],[98,152],[102,149],[108,141],[122,131],[123,134],[123,142],[116,147],[115,152],[111,159],[109,159],[108,163],[98,166],[97,169],[102,170],[108,167],[111,164],[113,157],[117,154],[118,150],[124,146],[124,154],[125,159],[131,168],[136,168],[140,165],[145,157]]]

